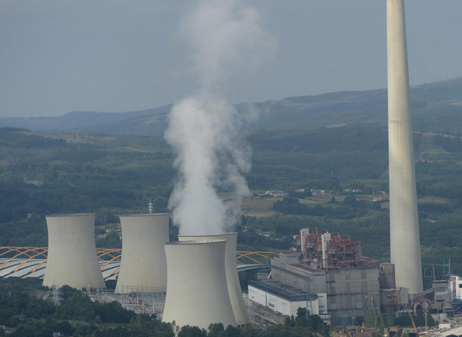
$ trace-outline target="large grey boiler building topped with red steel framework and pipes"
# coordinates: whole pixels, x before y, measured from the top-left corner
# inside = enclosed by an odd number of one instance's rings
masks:
[[[271,260],[273,280],[315,294],[319,314],[330,314],[334,325],[344,324],[350,312],[380,312],[379,270],[361,255],[359,241],[316,228],[302,229],[295,240],[295,251]],[[313,303],[306,305],[316,312]]]

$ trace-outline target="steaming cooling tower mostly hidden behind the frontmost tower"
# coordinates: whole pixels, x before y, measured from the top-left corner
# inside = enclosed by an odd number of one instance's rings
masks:
[[[251,319],[247,314],[247,310],[244,304],[244,298],[242,297],[241,285],[239,284],[239,276],[236,266],[236,240],[237,233],[227,233],[219,235],[198,235],[198,236],[178,236],[180,241],[184,240],[197,240],[197,241],[208,241],[208,240],[226,240],[226,252],[225,252],[225,271],[226,281],[228,285],[229,299],[231,300],[231,306],[233,307],[234,317],[238,327],[246,330],[251,327]]]

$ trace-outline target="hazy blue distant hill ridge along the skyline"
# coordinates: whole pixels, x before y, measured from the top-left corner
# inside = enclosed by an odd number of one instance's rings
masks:
[[[316,96],[288,97],[279,101],[236,105],[249,121],[241,132],[333,127],[351,124],[387,125],[387,89],[331,92]],[[411,87],[415,130],[461,134],[462,78]],[[74,111],[60,117],[0,118],[0,127],[24,127],[56,131],[112,135],[162,136],[168,126],[171,105],[127,113]],[[253,113],[249,114],[252,110]]]

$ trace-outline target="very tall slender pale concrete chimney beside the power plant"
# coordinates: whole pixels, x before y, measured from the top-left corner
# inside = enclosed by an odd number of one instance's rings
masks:
[[[423,290],[403,0],[387,0],[390,252],[396,286]]]

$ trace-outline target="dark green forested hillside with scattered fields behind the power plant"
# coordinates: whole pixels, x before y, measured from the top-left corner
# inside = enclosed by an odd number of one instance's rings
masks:
[[[254,194],[283,190],[290,197],[244,203],[237,227],[240,250],[286,250],[301,228],[318,227],[350,234],[362,241],[364,255],[389,260],[385,129],[358,124],[260,131],[246,138],[253,151],[246,178]],[[452,271],[462,273],[461,140],[415,133],[414,141],[422,261],[442,264],[451,256]],[[149,199],[155,212],[168,211],[173,160],[159,137],[37,135],[1,128],[0,245],[47,246],[45,215],[94,212],[95,234],[109,231],[97,245],[120,247],[114,232],[118,215],[147,212]],[[323,193],[295,192],[303,189]]]

